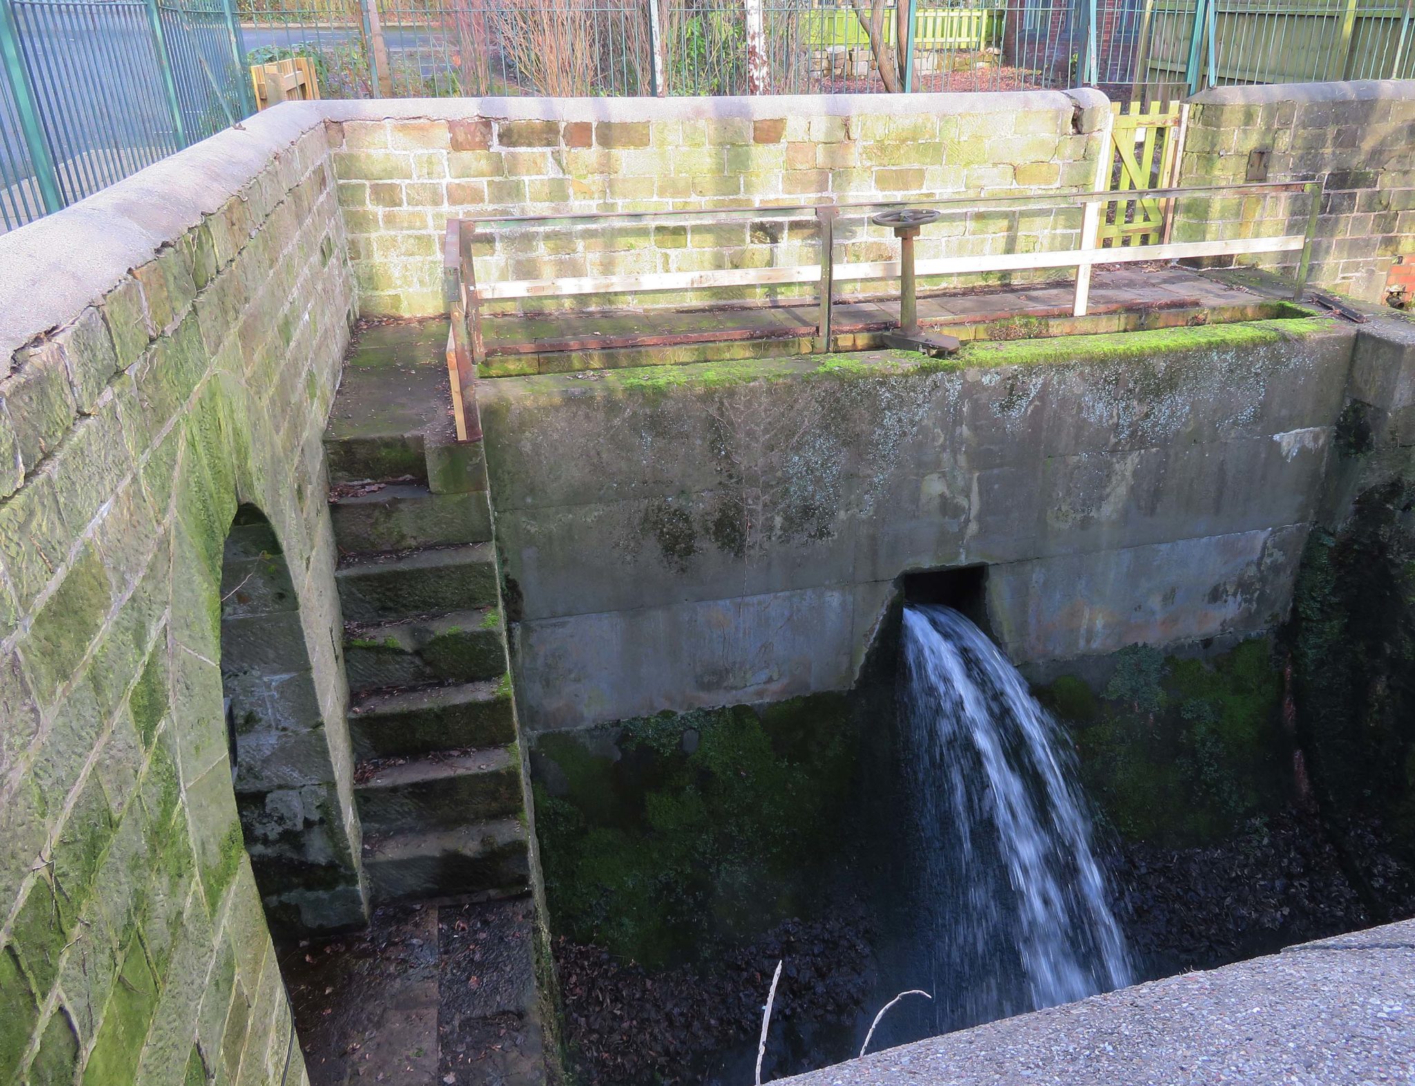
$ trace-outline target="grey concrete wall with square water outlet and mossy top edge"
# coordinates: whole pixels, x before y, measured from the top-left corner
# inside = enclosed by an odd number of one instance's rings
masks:
[[[846,688],[907,571],[988,564],[1019,663],[1269,629],[1353,338],[1315,319],[484,381],[524,724]]]

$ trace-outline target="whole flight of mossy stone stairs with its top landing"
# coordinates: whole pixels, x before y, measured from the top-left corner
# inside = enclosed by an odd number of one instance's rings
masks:
[[[529,889],[485,471],[453,438],[446,336],[366,330],[324,438],[375,903]]]

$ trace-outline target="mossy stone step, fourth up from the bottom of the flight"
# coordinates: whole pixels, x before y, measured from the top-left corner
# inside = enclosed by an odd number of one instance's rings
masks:
[[[501,678],[507,673],[501,612],[477,607],[345,630],[344,670],[351,694]]]

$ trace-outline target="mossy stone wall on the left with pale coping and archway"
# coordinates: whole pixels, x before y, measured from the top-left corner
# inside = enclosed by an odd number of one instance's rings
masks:
[[[323,821],[334,854],[267,903],[357,923],[320,445],[354,306],[299,108],[0,238],[7,1082],[304,1080],[232,789],[222,548],[238,501],[269,517],[317,688],[266,816],[272,851]]]

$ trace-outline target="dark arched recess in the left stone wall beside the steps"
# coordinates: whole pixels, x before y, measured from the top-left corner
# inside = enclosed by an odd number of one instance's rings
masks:
[[[279,535],[236,510],[221,565],[221,684],[246,851],[275,929],[364,923],[358,830],[341,801],[300,599]]]

